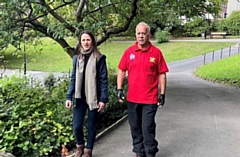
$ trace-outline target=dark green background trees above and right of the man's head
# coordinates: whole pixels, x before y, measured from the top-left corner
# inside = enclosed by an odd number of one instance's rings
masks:
[[[138,23],[144,18],[144,21],[151,25],[152,34],[154,34],[157,28],[164,30],[166,27],[171,32],[171,30],[182,25],[181,17],[187,19],[200,17],[205,19],[206,14],[211,14],[217,18],[223,3],[227,3],[227,1],[145,0],[144,3],[138,3],[138,16],[136,16],[133,22]],[[131,28],[131,31],[133,29]]]

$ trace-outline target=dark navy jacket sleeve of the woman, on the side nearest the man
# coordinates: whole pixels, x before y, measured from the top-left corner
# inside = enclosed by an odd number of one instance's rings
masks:
[[[108,102],[108,70],[106,56],[102,55],[98,62],[99,102]]]

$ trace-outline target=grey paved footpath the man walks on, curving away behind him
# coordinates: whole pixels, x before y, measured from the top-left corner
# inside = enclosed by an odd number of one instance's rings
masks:
[[[211,59],[206,55],[206,63]],[[240,89],[195,77],[201,65],[203,56],[168,64],[166,104],[156,115],[156,157],[240,157]],[[93,156],[134,156],[127,120],[97,140]]]

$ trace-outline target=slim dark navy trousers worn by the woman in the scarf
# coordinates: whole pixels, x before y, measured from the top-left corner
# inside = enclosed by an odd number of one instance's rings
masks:
[[[97,109],[92,111],[89,110],[88,104],[81,100],[75,99],[74,108],[73,108],[73,132],[78,145],[84,145],[84,117],[86,111],[88,110],[88,118],[87,118],[87,149],[93,149],[95,138],[96,138],[96,127],[97,127],[97,119],[98,112]]]

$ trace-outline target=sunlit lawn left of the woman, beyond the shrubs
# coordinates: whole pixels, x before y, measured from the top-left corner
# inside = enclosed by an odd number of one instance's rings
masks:
[[[75,43],[76,41],[70,41]],[[23,46],[21,47],[23,49]],[[41,50],[41,51],[40,51]],[[5,67],[9,69],[23,68],[23,51],[13,53],[9,47],[5,52]],[[68,72],[72,68],[72,59],[63,48],[50,38],[42,38],[37,47],[26,46],[27,70]]]

